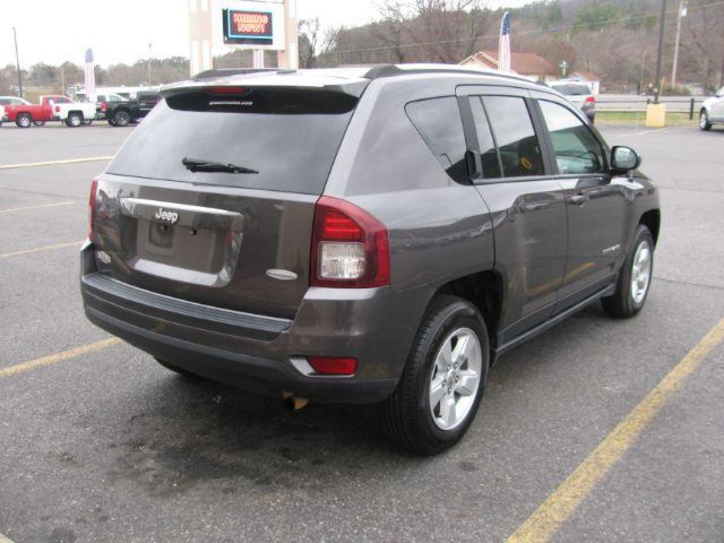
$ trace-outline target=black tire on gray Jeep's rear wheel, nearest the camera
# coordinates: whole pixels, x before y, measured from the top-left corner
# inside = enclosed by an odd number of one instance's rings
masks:
[[[439,349],[450,333],[460,328],[472,331],[479,341],[479,385],[465,418],[458,426],[445,430],[433,420],[429,405],[430,384]],[[400,382],[392,396],[382,404],[382,429],[390,442],[420,455],[434,455],[455,445],[478,411],[489,361],[488,334],[476,307],[455,296],[435,298],[418,329]]]

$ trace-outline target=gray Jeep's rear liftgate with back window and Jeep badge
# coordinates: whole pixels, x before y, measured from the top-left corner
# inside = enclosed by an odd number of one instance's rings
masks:
[[[315,203],[356,102],[240,87],[161,101],[98,182],[96,244],[110,261],[101,270],[185,300],[293,317],[309,284]]]

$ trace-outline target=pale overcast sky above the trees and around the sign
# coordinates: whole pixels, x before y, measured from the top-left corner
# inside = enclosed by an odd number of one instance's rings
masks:
[[[319,17],[325,26],[354,26],[376,17],[374,0],[297,0],[299,17]],[[526,0],[489,0],[488,7]],[[96,64],[132,63],[151,55],[188,56],[188,0],[2,0],[0,66],[15,63],[12,27],[17,28],[20,64],[83,64],[93,48]]]

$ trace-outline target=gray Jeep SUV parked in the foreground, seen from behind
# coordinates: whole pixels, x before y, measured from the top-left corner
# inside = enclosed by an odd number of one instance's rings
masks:
[[[424,454],[502,353],[647,297],[639,157],[560,94],[440,65],[205,72],[162,91],[90,193],[90,321],[258,392],[379,403]]]

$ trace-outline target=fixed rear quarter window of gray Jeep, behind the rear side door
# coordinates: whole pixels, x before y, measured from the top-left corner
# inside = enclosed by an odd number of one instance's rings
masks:
[[[442,169],[455,181],[467,180],[465,134],[457,98],[411,102],[405,111]]]

